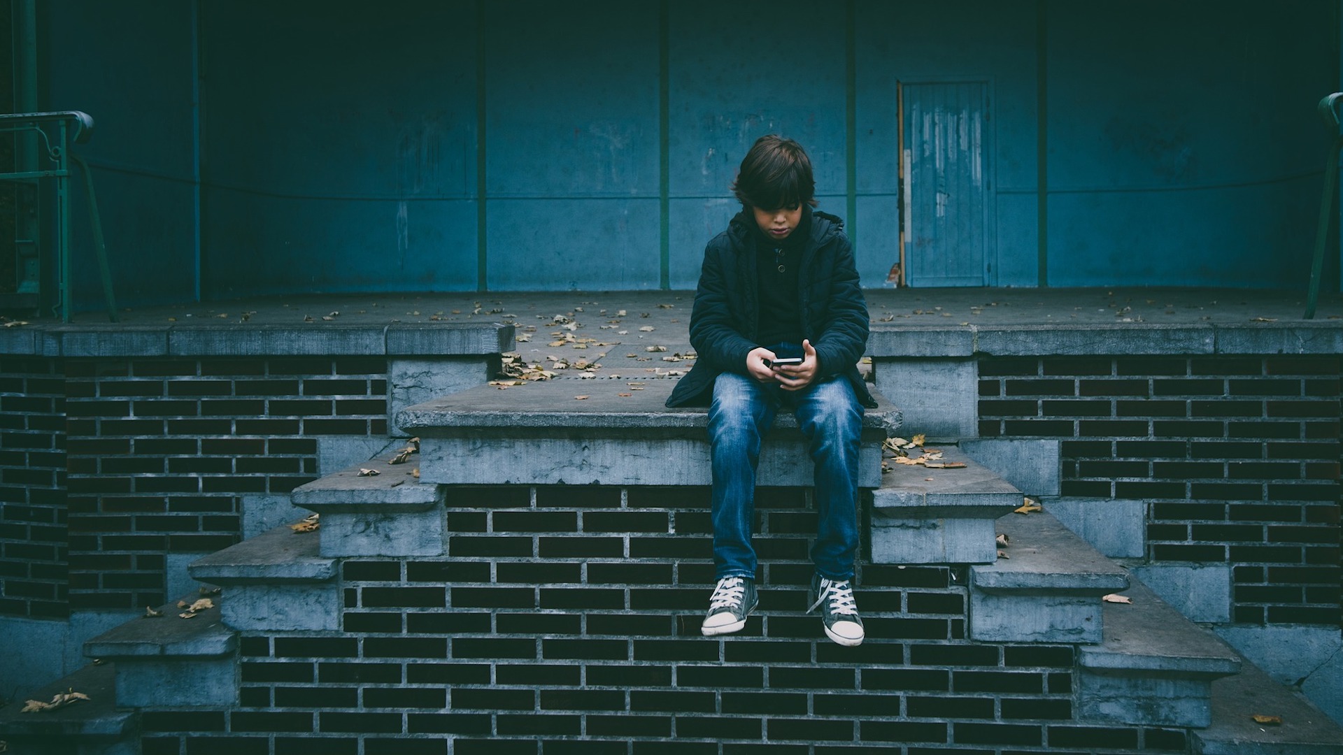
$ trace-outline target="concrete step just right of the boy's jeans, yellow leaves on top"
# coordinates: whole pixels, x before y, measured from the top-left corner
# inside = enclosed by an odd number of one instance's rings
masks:
[[[880,564],[986,564],[997,559],[994,523],[1022,504],[1021,490],[956,446],[937,446],[928,469],[890,461],[872,500],[872,555]]]

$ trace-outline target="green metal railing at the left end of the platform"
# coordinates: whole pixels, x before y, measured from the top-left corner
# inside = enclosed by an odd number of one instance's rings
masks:
[[[38,183],[42,179],[55,180],[55,247],[56,247],[56,302],[52,313],[59,313],[63,322],[70,322],[71,275],[70,275],[70,164],[83,173],[85,191],[89,193],[89,220],[93,224],[93,238],[98,269],[102,273],[102,293],[107,301],[107,318],[117,322],[117,301],[111,293],[111,271],[107,267],[107,246],[102,236],[102,220],[98,216],[98,200],[93,191],[93,175],[89,164],[70,152],[71,144],[83,144],[93,136],[93,118],[79,110],[55,113],[11,113],[0,114],[0,133],[13,133],[16,137],[16,171],[0,173],[0,180]],[[16,239],[17,240],[17,239]],[[35,254],[40,257],[42,249]]]

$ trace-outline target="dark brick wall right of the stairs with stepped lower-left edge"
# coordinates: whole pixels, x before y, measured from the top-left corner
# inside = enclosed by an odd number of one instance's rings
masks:
[[[1062,494],[1148,505],[1150,556],[1234,566],[1238,623],[1336,625],[1339,357],[979,363],[983,437],[1062,439]]]

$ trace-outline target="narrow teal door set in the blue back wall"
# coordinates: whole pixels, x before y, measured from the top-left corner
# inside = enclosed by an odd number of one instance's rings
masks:
[[[908,283],[991,285],[986,83],[905,83],[904,118]]]

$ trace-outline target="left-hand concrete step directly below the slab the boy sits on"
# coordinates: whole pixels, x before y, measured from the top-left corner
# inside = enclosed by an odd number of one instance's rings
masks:
[[[445,489],[415,477],[420,454],[391,463],[395,457],[395,453],[379,454],[290,493],[295,506],[321,515],[318,556],[443,555]],[[474,463],[474,459],[466,462]],[[361,474],[365,469],[377,474]]]

